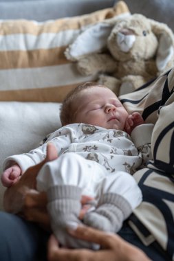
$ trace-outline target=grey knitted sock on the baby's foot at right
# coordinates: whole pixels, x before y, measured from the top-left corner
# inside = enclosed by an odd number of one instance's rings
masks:
[[[85,214],[83,222],[96,229],[117,232],[131,212],[131,205],[122,196],[103,194],[96,210]]]

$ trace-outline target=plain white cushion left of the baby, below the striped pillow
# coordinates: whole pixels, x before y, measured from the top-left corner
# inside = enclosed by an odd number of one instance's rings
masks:
[[[0,102],[0,171],[6,157],[28,152],[48,134],[61,127],[60,103]],[[3,192],[0,185],[0,209]]]

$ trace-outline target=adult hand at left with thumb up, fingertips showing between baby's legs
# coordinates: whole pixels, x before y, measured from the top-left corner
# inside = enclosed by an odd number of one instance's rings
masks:
[[[47,156],[44,161],[28,168],[22,175],[21,179],[12,187],[8,188],[4,196],[4,208],[7,212],[19,214],[26,220],[39,223],[43,227],[50,229],[50,218],[47,214],[47,195],[45,192],[36,191],[36,176],[43,164],[52,161],[58,157],[54,144],[47,144]],[[89,209],[89,201],[93,198],[82,196],[82,209],[79,218],[83,216]]]

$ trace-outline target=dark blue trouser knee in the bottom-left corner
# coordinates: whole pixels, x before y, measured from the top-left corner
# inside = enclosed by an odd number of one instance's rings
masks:
[[[1,261],[45,261],[48,236],[38,225],[0,212]]]

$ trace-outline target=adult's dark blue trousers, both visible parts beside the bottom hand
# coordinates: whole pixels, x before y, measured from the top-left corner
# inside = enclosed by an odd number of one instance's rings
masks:
[[[118,234],[124,240],[142,249],[152,260],[168,260],[155,245],[144,246],[127,222],[124,223]],[[49,234],[38,225],[13,214],[0,212],[1,261],[46,261],[48,237]]]

